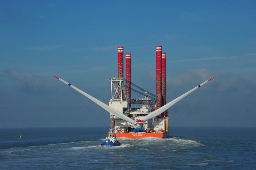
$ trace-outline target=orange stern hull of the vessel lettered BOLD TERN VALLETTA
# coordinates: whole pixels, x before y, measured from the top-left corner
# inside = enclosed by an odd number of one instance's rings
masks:
[[[116,137],[127,137],[127,138],[144,138],[144,137],[158,137],[167,138],[169,133],[143,133],[143,132],[129,132],[129,133],[116,133]]]

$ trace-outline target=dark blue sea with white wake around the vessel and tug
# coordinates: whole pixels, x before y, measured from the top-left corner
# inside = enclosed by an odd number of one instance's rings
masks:
[[[253,127],[171,127],[167,139],[101,146],[107,133],[108,127],[0,129],[0,169],[256,169]]]

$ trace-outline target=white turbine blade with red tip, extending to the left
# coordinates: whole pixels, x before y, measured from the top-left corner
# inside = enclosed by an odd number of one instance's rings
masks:
[[[70,83],[66,82],[65,80],[60,79],[59,77],[53,75],[54,77],[56,77],[57,79],[59,79],[60,81],[62,81],[63,83],[67,84],[68,86],[72,87],[73,89],[75,89],[76,91],[78,91],[79,93],[83,94],[84,96],[88,97],[89,99],[91,99],[92,101],[94,101],[96,104],[98,104],[99,106],[101,106],[103,109],[105,109],[106,111],[108,111],[109,113],[114,114],[115,116],[128,121],[129,123],[134,123],[134,120],[129,118],[128,116],[124,115],[123,113],[120,113],[119,111],[113,109],[112,107],[106,105],[105,103],[103,103],[102,101],[99,101],[98,99],[95,99],[94,97],[92,97],[91,95],[85,93],[84,91],[78,89],[77,87],[71,85]]]

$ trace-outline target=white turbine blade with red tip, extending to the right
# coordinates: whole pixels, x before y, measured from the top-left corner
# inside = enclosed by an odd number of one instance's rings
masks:
[[[213,79],[213,77],[211,78]],[[158,116],[159,114],[163,113],[165,110],[169,109],[171,106],[173,106],[175,103],[177,103],[178,101],[180,101],[181,99],[183,99],[184,97],[186,97],[188,94],[192,93],[193,91],[195,91],[196,89],[198,89],[199,87],[203,86],[205,83],[207,83],[209,80],[204,81],[204,83],[198,85],[197,87],[195,87],[194,89],[191,89],[190,91],[188,91],[187,93],[184,93],[183,95],[181,95],[180,97],[177,97],[176,99],[174,99],[173,101],[170,101],[169,103],[165,104],[164,106],[160,107],[159,109],[151,112],[150,114],[148,114],[147,116],[143,117],[141,120],[147,121],[149,119],[152,119],[153,117]]]

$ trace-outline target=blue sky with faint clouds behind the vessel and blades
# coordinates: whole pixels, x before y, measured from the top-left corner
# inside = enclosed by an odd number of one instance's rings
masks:
[[[132,82],[155,93],[155,46],[167,53],[171,126],[256,126],[256,2],[0,1],[0,128],[109,126],[117,46]],[[133,95],[133,94],[132,94]],[[141,97],[141,96],[132,96]]]

